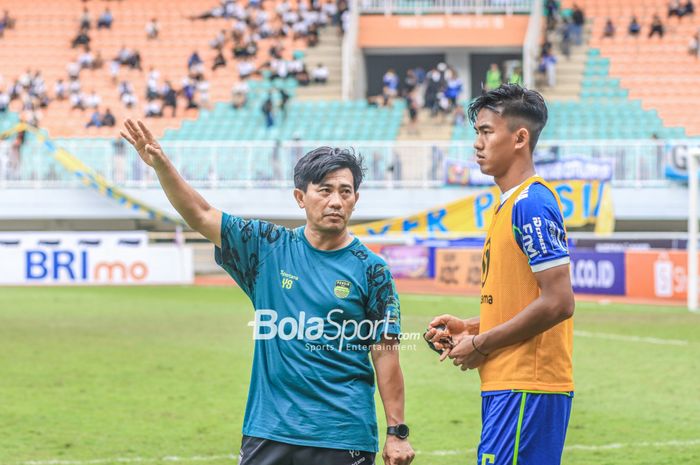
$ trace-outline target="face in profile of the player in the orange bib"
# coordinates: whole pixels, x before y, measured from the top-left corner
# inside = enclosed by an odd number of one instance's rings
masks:
[[[482,109],[474,123],[476,162],[481,172],[495,178],[502,177],[515,158],[515,136],[508,122],[498,113]]]

